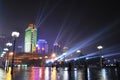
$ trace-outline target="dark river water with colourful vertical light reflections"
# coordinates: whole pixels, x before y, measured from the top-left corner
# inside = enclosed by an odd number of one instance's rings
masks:
[[[86,72],[87,71],[87,72]],[[86,78],[87,77],[87,78]],[[116,68],[15,67],[11,75],[0,69],[0,80],[120,80]]]

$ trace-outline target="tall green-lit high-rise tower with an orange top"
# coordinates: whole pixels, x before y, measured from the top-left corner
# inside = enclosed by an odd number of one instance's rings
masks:
[[[37,29],[34,24],[29,24],[25,30],[25,52],[36,52],[36,41],[37,41]]]

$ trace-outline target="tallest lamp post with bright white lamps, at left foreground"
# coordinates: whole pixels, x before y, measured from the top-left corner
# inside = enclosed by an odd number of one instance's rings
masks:
[[[16,38],[19,37],[20,33],[19,32],[12,32],[12,37],[13,37],[13,55],[12,55],[12,64],[11,64],[11,74],[13,74],[13,67],[14,67],[14,54],[15,54],[15,43],[16,43]]]

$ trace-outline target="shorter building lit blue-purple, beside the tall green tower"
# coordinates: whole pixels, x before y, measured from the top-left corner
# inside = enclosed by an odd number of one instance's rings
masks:
[[[37,50],[36,50],[37,53],[39,53],[39,54],[48,53],[48,43],[46,40],[39,39],[37,41],[36,47],[37,47]]]

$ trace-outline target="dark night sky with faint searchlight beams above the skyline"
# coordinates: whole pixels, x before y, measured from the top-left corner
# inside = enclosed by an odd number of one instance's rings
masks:
[[[115,0],[0,1],[0,34],[10,37],[12,31],[19,31],[17,45],[23,46],[24,31],[29,23],[36,24],[38,39],[47,40],[49,48],[55,40],[72,48],[102,31],[89,42],[91,45],[83,47],[83,52],[96,50],[97,45],[120,47],[120,6]]]

